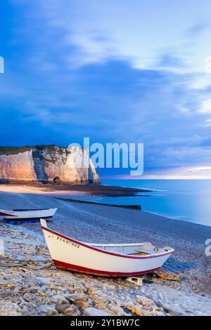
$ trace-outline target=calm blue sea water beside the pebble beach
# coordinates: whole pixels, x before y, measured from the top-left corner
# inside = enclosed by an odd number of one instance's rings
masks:
[[[211,226],[211,180],[102,180],[102,183],[157,191],[135,197],[103,197],[98,202],[141,204],[143,211]]]

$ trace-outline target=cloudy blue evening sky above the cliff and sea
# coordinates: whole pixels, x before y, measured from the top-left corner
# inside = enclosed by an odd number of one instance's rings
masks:
[[[0,145],[143,143],[144,177],[211,178],[210,18],[210,0],[1,1]]]

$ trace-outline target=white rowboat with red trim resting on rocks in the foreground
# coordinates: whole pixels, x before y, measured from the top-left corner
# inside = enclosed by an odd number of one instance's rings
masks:
[[[151,243],[89,244],[69,238],[47,227],[41,219],[46,244],[56,268],[91,275],[124,277],[158,270],[174,252],[155,249]]]

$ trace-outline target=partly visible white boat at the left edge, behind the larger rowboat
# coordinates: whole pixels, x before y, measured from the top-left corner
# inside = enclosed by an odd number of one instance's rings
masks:
[[[57,209],[16,209],[6,211],[0,209],[0,216],[6,221],[40,220],[41,218],[52,218]]]

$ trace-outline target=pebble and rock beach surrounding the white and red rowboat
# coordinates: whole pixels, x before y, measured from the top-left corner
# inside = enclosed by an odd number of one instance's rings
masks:
[[[84,242],[172,246],[175,253],[165,268],[179,273],[181,282],[148,275],[137,286],[122,278],[56,270],[39,223],[1,222],[0,315],[211,315],[211,258],[205,255],[211,227],[140,210],[58,199],[91,194],[87,188],[0,185],[0,208],[56,207],[49,227]],[[48,267],[41,268],[44,263]]]

